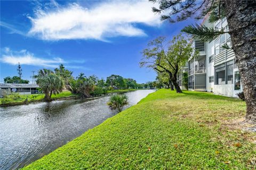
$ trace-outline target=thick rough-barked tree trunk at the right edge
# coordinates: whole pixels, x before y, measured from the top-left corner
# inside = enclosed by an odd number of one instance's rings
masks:
[[[256,123],[256,1],[222,1],[246,101],[246,121]]]

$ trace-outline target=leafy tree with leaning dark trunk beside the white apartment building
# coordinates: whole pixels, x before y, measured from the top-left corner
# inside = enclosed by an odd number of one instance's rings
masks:
[[[173,37],[169,43],[166,43],[165,37],[150,41],[148,48],[143,50],[142,53],[143,58],[140,66],[169,74],[170,80],[178,93],[182,92],[177,83],[177,74],[180,67],[185,65],[189,58],[198,56],[198,52],[181,35]]]

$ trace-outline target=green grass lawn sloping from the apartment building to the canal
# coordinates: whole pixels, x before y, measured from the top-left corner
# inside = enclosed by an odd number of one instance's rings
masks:
[[[255,169],[244,101],[161,89],[25,169]]]

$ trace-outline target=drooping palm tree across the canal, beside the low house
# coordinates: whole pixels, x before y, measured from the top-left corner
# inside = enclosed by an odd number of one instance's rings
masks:
[[[45,94],[44,99],[51,101],[52,94],[56,95],[62,91],[64,85],[63,80],[58,75],[49,71],[39,70],[38,73],[36,82]]]

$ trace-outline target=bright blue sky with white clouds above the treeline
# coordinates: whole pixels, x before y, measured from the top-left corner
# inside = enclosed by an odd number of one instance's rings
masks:
[[[187,20],[168,23],[151,12],[147,1],[1,1],[1,75],[22,79],[31,71],[59,64],[106,78],[118,74],[137,82],[155,80],[140,68],[141,51],[158,36],[172,38]]]

